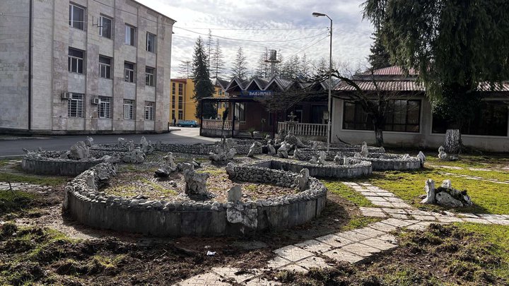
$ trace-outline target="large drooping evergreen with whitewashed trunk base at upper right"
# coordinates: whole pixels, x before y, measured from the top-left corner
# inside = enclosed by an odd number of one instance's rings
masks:
[[[419,73],[447,129],[468,123],[480,83],[509,78],[507,0],[367,0],[363,7],[394,64]],[[446,152],[457,153],[459,143],[446,143]]]

